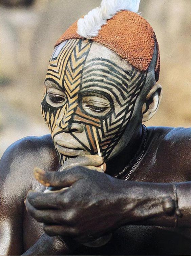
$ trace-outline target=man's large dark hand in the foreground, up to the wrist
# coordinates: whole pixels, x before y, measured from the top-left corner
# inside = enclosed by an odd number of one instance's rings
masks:
[[[86,242],[120,227],[124,202],[120,180],[83,167],[63,172],[36,171],[41,183],[57,188],[51,193],[29,191],[28,212],[44,222],[44,231]]]

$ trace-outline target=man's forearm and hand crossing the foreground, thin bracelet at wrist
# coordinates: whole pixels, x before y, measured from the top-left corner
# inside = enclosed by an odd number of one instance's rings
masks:
[[[70,186],[54,193],[28,193],[28,211],[52,236],[86,242],[126,224],[191,227],[191,182],[123,181],[82,167],[39,172],[38,177],[51,186]]]

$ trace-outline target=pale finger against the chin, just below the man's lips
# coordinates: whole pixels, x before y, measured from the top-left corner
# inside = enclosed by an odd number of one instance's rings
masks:
[[[65,171],[76,166],[95,166],[98,167],[104,162],[103,157],[98,155],[78,156],[76,158],[68,159],[59,169]]]

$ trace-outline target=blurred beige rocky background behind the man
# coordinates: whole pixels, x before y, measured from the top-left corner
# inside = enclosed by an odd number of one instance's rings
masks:
[[[54,43],[101,0],[1,0],[0,156],[8,145],[48,133],[40,112]],[[191,0],[142,0],[161,51],[163,99],[146,125],[191,126]]]

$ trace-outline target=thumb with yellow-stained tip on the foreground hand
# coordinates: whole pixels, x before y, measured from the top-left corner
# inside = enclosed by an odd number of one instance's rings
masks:
[[[47,172],[35,167],[33,171],[34,177],[44,186],[52,186],[65,188],[71,186],[79,177],[69,172]]]

